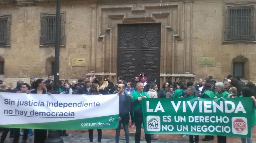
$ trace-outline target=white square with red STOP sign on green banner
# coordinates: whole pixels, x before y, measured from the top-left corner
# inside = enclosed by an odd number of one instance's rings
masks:
[[[237,135],[247,135],[248,134],[247,119],[244,117],[233,117],[232,133]]]

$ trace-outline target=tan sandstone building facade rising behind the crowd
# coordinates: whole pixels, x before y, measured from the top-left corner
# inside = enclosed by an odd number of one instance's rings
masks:
[[[150,74],[160,75],[156,77],[161,85],[177,76],[195,81],[212,75],[222,81],[229,74],[240,74],[255,81],[255,4],[246,0],[61,0],[60,78],[88,77],[93,71],[116,81],[120,74],[126,78],[139,74],[129,70],[141,66],[141,71],[158,71]],[[45,16],[55,13],[56,0],[0,0],[0,27],[1,18],[8,20],[8,39],[0,45],[0,61],[4,63],[0,79],[12,83],[52,74],[54,45],[42,42],[42,25]],[[154,24],[158,24],[158,33]],[[246,29],[239,29],[241,25]],[[122,35],[127,30],[131,32]],[[135,34],[137,30],[141,35]],[[130,50],[133,39],[140,46],[135,45],[135,53],[136,48],[142,48],[135,57],[125,50]],[[145,43],[156,51],[143,50]],[[215,57],[215,64],[199,66],[198,57]],[[84,59],[85,64],[72,66],[74,58]],[[132,65],[137,58],[152,68]],[[124,72],[120,72],[120,62],[125,65]]]

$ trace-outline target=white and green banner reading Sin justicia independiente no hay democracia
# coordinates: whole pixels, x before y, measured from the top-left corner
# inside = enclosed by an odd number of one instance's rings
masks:
[[[119,96],[0,92],[0,127],[36,129],[117,128]]]

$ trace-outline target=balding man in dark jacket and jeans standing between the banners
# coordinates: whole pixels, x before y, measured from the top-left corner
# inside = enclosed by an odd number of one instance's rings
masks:
[[[125,133],[125,141],[126,143],[129,143],[129,130],[128,130],[128,124],[130,121],[130,107],[131,107],[131,99],[130,96],[128,96],[124,92],[124,84],[118,84],[118,94],[119,94],[119,126],[115,130],[115,142],[119,143],[119,137],[120,137],[120,129],[121,124],[123,124],[124,127],[124,133]]]

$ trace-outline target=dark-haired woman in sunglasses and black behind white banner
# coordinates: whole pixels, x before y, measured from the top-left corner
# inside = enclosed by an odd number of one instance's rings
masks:
[[[32,94],[47,94],[45,90],[45,81],[43,79],[36,80],[36,89],[31,91]],[[35,129],[34,130],[34,143],[44,143],[47,138],[47,130]]]

